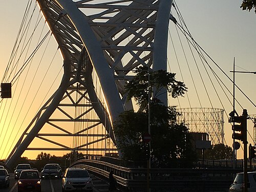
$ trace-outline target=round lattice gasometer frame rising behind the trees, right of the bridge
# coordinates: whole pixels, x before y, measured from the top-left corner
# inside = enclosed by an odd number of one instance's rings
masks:
[[[189,132],[207,133],[211,144],[224,144],[224,110],[216,108],[176,109],[178,123],[184,123]]]

